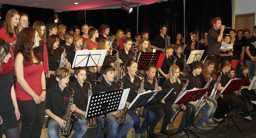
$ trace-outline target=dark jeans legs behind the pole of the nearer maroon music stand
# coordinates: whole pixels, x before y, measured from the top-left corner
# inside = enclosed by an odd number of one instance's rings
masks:
[[[186,111],[184,111],[181,120],[180,120],[180,126],[178,128],[178,131],[182,130],[186,126],[186,118],[188,113],[188,126],[194,125],[194,117],[196,114],[196,106],[193,104],[188,103],[188,106],[186,106]]]

